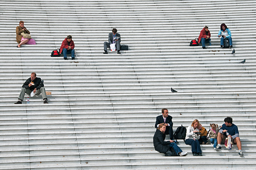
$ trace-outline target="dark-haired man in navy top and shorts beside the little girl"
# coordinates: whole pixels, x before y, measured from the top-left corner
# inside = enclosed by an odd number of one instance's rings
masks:
[[[219,132],[218,132],[218,136],[217,136],[217,143],[218,146],[216,147],[215,150],[221,150],[221,146],[220,143],[223,139],[225,139],[227,137],[226,132],[229,133],[228,136],[231,137],[231,139],[233,139],[233,143],[237,145],[237,148],[239,149],[238,155],[239,156],[243,156],[243,152],[242,152],[242,144],[239,138],[239,132],[238,132],[238,128],[236,125],[234,125],[232,122],[232,118],[230,117],[226,117],[224,119],[224,124],[221,126]],[[225,138],[224,138],[225,136]]]

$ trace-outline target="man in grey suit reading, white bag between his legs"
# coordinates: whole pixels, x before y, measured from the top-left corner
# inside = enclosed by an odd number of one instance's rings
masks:
[[[113,28],[112,33],[108,34],[108,42],[104,42],[105,52],[103,52],[103,54],[108,54],[107,48],[110,48],[110,44],[114,44],[114,43],[116,43],[117,54],[121,54],[120,52],[121,36],[116,32],[117,32],[116,28]]]

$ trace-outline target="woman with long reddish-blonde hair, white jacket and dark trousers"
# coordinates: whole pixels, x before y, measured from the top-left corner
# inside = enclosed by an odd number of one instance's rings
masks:
[[[191,151],[193,153],[193,156],[202,156],[202,150],[198,141],[200,135],[195,134],[196,132],[199,132],[199,130],[197,129],[198,125],[200,125],[200,123],[197,119],[195,119],[192,122],[192,125],[187,127],[187,133],[185,138],[185,143],[187,145],[191,145]]]

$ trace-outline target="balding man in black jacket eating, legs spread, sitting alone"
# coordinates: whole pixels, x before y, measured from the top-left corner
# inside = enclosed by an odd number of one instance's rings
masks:
[[[22,90],[20,91],[18,98],[19,101],[14,104],[22,104],[25,93],[32,95],[32,92],[34,93],[33,95],[40,95],[40,93],[42,93],[43,103],[48,103],[45,88],[43,86],[42,80],[39,77],[36,77],[35,72],[32,72],[30,78],[28,78],[22,86]]]

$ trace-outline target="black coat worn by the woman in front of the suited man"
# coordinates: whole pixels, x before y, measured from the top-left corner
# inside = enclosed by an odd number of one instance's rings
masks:
[[[168,149],[170,149],[170,141],[164,141],[165,135],[160,130],[157,129],[155,135],[153,137],[153,143],[155,150],[160,153],[165,153]]]

